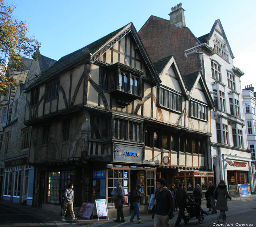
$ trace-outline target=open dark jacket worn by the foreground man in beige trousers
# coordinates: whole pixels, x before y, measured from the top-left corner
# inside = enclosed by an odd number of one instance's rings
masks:
[[[163,189],[163,197],[165,199],[164,203],[165,203],[165,209],[167,211],[167,215],[169,216],[169,218],[173,218],[174,217],[174,200],[173,200],[173,194],[172,192],[164,187]],[[155,199],[158,200],[158,190],[155,191]],[[158,201],[157,201],[158,203]],[[155,205],[153,207],[153,213],[152,213],[152,219],[154,218],[155,215]]]

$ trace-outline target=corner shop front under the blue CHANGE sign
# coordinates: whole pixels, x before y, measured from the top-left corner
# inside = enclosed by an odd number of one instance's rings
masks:
[[[116,215],[114,201],[111,192],[116,191],[116,181],[120,181],[124,188],[125,204],[124,212],[129,211],[129,192],[135,189],[136,184],[142,185],[140,192],[142,199],[140,209],[147,211],[151,194],[155,190],[156,167],[152,162],[143,162],[142,148],[133,146],[115,145],[112,163],[98,163],[92,172],[93,187],[91,188],[91,202],[95,199],[106,199],[109,216]],[[96,167],[97,166],[97,167]]]

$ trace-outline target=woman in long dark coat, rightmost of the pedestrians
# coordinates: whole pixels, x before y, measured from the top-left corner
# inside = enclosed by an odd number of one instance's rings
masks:
[[[227,192],[227,185],[224,180],[219,181],[219,185],[215,188],[214,193],[217,193],[217,203],[216,209],[219,209],[220,214],[217,216],[217,221],[219,224],[219,219],[222,218],[223,222],[226,221],[226,213],[227,211],[227,198],[231,200],[229,193]]]

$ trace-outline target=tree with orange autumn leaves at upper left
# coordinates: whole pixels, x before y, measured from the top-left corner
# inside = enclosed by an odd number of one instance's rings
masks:
[[[40,43],[34,36],[27,37],[26,21],[12,18],[15,5],[4,5],[0,0],[0,95],[5,95],[8,87],[16,86],[16,81],[8,70],[20,71],[24,56],[36,58],[35,51]]]

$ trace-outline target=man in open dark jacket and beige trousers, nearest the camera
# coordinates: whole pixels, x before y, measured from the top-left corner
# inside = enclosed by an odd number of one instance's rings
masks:
[[[165,187],[163,178],[156,180],[157,190],[153,201],[154,227],[170,227],[170,219],[174,217],[174,200],[171,191]]]

